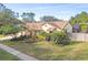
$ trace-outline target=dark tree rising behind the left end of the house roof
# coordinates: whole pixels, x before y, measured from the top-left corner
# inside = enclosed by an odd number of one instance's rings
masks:
[[[22,21],[25,22],[33,22],[35,21],[35,13],[32,12],[23,12],[21,18],[22,18]]]

